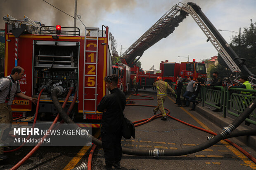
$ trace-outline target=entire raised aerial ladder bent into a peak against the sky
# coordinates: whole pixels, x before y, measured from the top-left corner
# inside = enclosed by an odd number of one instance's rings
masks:
[[[169,9],[164,16],[162,16],[123,53],[123,56],[121,57],[122,62],[133,67],[145,50],[162,38],[166,38],[168,35],[173,33],[175,27],[178,27],[179,23],[182,22],[189,14],[206,35],[206,41],[210,41],[211,44],[213,44],[213,47],[218,51],[230,70],[232,72],[242,71],[244,75],[249,75],[249,81],[251,84],[256,85],[256,75],[248,70],[244,63],[245,59],[237,56],[235,51],[204,15],[201,8],[192,2],[188,2],[187,4],[179,2],[178,5],[174,5]]]

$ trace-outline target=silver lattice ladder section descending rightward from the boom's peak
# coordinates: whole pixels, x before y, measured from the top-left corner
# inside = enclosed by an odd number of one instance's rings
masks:
[[[205,25],[205,23],[201,20],[201,18],[198,16],[198,14],[194,11],[194,9],[188,5],[183,4],[182,10],[189,13],[194,21],[196,21],[197,25],[201,28],[201,30],[204,32],[206,37],[208,38],[207,41],[211,41],[211,44],[215,47],[215,49],[218,51],[220,56],[223,58],[225,63],[227,63],[228,67],[232,72],[241,72],[240,68],[237,66],[237,64],[233,61],[233,59],[230,57],[228,52],[222,47],[218,39],[211,33],[209,28]]]

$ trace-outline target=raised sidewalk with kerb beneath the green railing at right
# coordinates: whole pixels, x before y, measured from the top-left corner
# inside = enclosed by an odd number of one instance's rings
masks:
[[[202,116],[204,116],[206,119],[209,119],[212,121],[216,126],[219,126],[220,128],[223,128],[225,126],[228,126],[231,124],[235,119],[232,119],[230,117],[223,117],[223,112],[213,112],[211,109],[208,108],[208,106],[197,106],[195,108],[195,111]],[[249,126],[244,125],[244,122],[239,125],[234,131],[237,130],[248,130],[253,129]],[[236,137],[238,140],[246,144],[248,147],[251,147],[252,149],[256,150],[256,136],[241,136]]]

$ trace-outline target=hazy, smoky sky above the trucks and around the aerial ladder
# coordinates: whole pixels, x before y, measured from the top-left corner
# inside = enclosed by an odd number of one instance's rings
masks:
[[[45,0],[74,15],[75,0]],[[143,35],[161,16],[179,2],[188,0],[78,0],[77,14],[87,27],[109,26],[116,39],[117,51],[125,52],[141,35]],[[216,29],[231,30],[241,33],[244,27],[256,22],[256,0],[192,0],[201,7],[202,12],[213,23]],[[73,19],[48,5],[43,0],[0,0],[0,16],[7,14],[16,19],[26,15],[33,21],[45,25],[73,26]],[[4,28],[4,20],[0,20],[0,29]],[[84,30],[83,24],[77,20],[77,26]],[[84,31],[83,31],[84,33]],[[237,33],[220,31],[224,39],[230,43]],[[168,37],[163,38],[147,49],[140,58],[143,70],[159,69],[161,61],[180,63],[192,59],[196,61],[209,59],[218,52],[191,16],[187,16]],[[182,57],[178,57],[182,56]]]

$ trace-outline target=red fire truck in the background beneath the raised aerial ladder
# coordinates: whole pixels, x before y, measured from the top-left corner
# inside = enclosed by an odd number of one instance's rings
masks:
[[[197,79],[198,75],[202,75],[202,78],[206,78],[206,68],[204,63],[193,62],[181,62],[181,63],[168,63],[168,60],[160,63],[161,73],[150,74],[145,72],[139,72],[139,67],[135,66],[131,68],[131,79],[134,76],[137,77],[139,86],[145,88],[151,87],[156,81],[156,77],[161,76],[165,82],[171,84],[176,82],[176,78],[180,75],[183,78],[193,77],[193,80]]]

